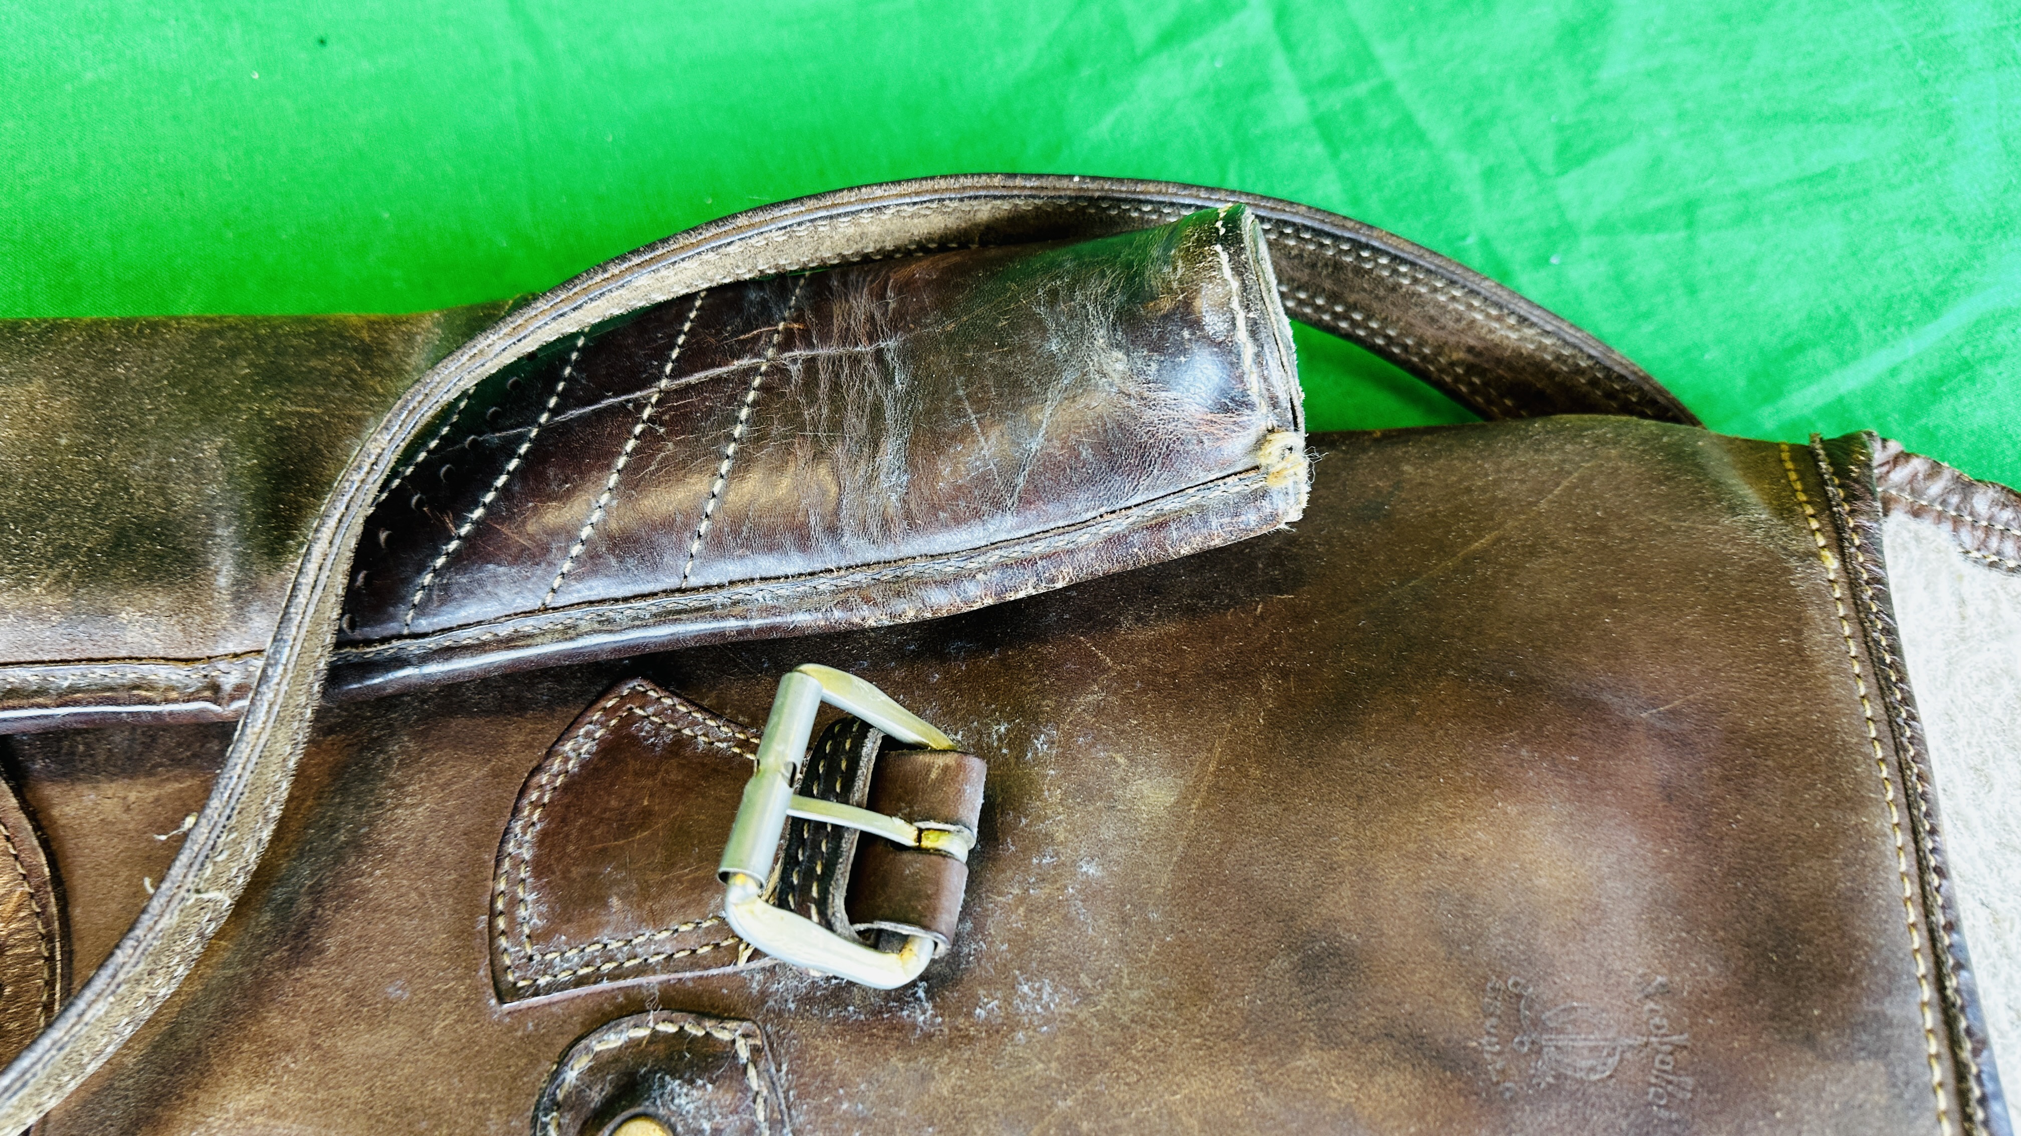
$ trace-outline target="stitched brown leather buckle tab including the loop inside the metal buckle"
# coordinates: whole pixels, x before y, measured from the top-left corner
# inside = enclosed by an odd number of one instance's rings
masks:
[[[758,730],[647,679],[582,712],[527,774],[499,839],[489,940],[501,1005],[772,962],[730,930],[715,875],[756,744]],[[972,754],[887,750],[881,732],[839,718],[794,790],[974,833],[984,772]],[[772,902],[851,940],[895,930],[948,946],[956,934],[968,869],[944,853],[794,819],[778,865]]]

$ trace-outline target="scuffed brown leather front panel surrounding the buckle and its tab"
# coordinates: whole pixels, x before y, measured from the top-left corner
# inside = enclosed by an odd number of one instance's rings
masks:
[[[499,825],[620,673],[463,683],[325,716],[247,902],[51,1132],[523,1132],[556,1059],[649,1003],[758,1023],[800,1130],[1958,1130],[1910,782],[1805,447],[1599,418],[1320,445],[1295,532],[653,661],[746,722],[788,667],[847,667],[988,758],[922,984],[499,1011]]]

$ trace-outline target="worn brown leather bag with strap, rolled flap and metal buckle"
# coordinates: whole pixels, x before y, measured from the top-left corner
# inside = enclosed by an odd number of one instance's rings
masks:
[[[1386,232],[930,178],[0,382],[4,1126],[2009,1132],[2021,497]]]

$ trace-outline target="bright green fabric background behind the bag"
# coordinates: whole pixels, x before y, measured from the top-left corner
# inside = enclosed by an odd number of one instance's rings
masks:
[[[1714,429],[2021,483],[2009,2],[18,0],[0,315],[416,311],[689,224],[972,170],[1380,224]],[[1300,332],[1312,424],[1463,418]]]

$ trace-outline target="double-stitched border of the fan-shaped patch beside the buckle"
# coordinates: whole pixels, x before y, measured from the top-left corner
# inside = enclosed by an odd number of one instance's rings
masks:
[[[730,936],[730,938],[724,938],[724,940],[717,940],[717,942],[697,944],[697,946],[689,946],[689,948],[681,948],[681,950],[667,950],[667,952],[659,952],[659,954],[639,954],[637,952],[637,948],[641,944],[645,944],[645,942],[673,938],[677,934],[701,930],[701,928],[715,926],[715,924],[721,922],[719,916],[707,916],[707,918],[685,922],[685,924],[677,924],[677,926],[671,926],[671,928],[657,928],[657,930],[641,932],[641,934],[629,936],[629,938],[606,938],[606,940],[586,942],[586,944],[580,944],[580,946],[562,948],[562,950],[548,950],[548,952],[542,952],[542,950],[534,948],[534,928],[532,928],[532,918],[530,916],[532,916],[532,906],[538,900],[538,895],[527,889],[527,871],[532,867],[532,845],[534,845],[534,837],[540,831],[540,817],[546,813],[548,804],[554,800],[554,794],[562,788],[562,784],[570,776],[574,776],[576,770],[580,770],[584,762],[588,762],[592,756],[596,756],[596,750],[600,748],[602,740],[608,736],[610,728],[614,726],[614,722],[610,720],[612,707],[618,705],[620,701],[624,701],[629,697],[637,697],[637,695],[649,695],[655,701],[659,701],[661,705],[669,705],[675,712],[679,712],[681,716],[693,720],[697,726],[703,726],[703,728],[713,726],[717,732],[730,734],[734,738],[752,740],[750,734],[746,734],[742,730],[736,730],[728,720],[715,720],[715,716],[707,716],[699,707],[693,707],[693,705],[689,705],[689,703],[685,703],[685,701],[681,701],[677,697],[671,697],[665,691],[661,691],[657,687],[651,687],[643,679],[627,683],[622,689],[618,689],[616,693],[612,693],[610,697],[606,697],[590,714],[590,720],[584,722],[582,732],[578,732],[576,738],[570,740],[570,746],[564,750],[568,754],[568,760],[562,762],[560,766],[550,766],[542,774],[542,780],[538,782],[538,786],[534,790],[536,796],[534,796],[534,800],[530,800],[532,809],[527,809],[523,821],[517,815],[513,817],[513,827],[517,831],[511,833],[511,843],[509,843],[511,851],[505,853],[505,863],[499,865],[499,877],[497,877],[497,883],[493,885],[493,900],[491,900],[493,942],[497,942],[499,954],[505,960],[505,978],[515,988],[523,990],[527,986],[562,982],[562,980],[568,980],[568,978],[576,978],[580,974],[610,972],[610,970],[618,970],[618,968],[624,968],[624,966],[645,966],[645,964],[653,964],[653,962],[665,962],[667,958],[687,958],[691,954],[707,954],[709,950],[717,950],[721,946],[732,946],[736,942],[742,942],[738,936]],[[746,752],[746,750],[742,750],[738,746],[732,746],[730,742],[721,742],[717,738],[705,738],[705,736],[701,736],[693,728],[675,726],[675,724],[667,722],[665,718],[657,718],[651,712],[641,709],[637,705],[622,705],[622,707],[616,709],[616,714],[635,714],[635,716],[645,718],[649,722],[657,722],[661,726],[667,726],[671,730],[687,734],[689,738],[695,738],[697,742],[730,750],[730,752],[740,754],[744,758],[752,758],[750,752]],[[513,877],[513,867],[511,867],[513,859],[519,861],[517,879],[515,881],[509,879],[509,877]],[[505,932],[507,889],[511,889],[515,893],[515,897],[517,897],[517,920],[519,920],[519,938],[521,938],[521,942],[517,944],[517,950],[519,950],[521,958],[517,962],[525,964],[525,970],[523,970],[525,976],[521,976],[519,966],[515,966],[513,942],[511,942],[511,938]],[[560,970],[560,972],[534,974],[534,968],[536,968],[538,962],[574,958],[574,956],[580,956],[580,954],[588,954],[592,950],[608,950],[608,948],[620,948],[624,954],[620,954],[618,958],[612,958],[612,960],[590,964],[590,966],[574,966],[574,968]]]

